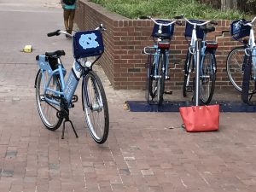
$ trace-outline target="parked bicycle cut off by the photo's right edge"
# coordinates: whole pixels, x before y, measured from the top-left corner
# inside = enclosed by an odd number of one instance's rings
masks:
[[[241,93],[247,92],[248,98],[242,99],[244,102],[251,100],[252,96],[256,94],[255,21],[256,17],[253,20],[233,20],[230,23],[232,38],[242,45],[230,51],[227,56],[226,71],[236,90]],[[243,84],[247,86],[243,87]]]

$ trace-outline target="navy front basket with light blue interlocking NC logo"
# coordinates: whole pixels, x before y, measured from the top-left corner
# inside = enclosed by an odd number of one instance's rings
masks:
[[[102,32],[99,30],[80,31],[73,36],[73,57],[76,59],[102,55],[104,45]]]

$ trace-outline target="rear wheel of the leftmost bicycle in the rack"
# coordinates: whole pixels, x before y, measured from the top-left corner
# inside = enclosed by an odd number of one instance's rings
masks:
[[[164,91],[165,91],[165,79],[166,79],[166,54],[160,53],[158,62],[158,78],[157,80],[157,103],[162,105],[164,101]]]

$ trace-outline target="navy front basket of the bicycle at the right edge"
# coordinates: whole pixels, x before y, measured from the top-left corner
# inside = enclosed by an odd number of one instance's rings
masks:
[[[234,38],[236,40],[250,35],[251,26],[241,25],[241,22],[248,23],[248,22],[251,22],[251,20],[245,20],[245,19],[233,20],[230,23],[230,34],[231,34],[232,38]]]

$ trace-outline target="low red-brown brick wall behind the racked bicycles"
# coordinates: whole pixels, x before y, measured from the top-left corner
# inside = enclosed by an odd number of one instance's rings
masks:
[[[153,23],[150,20],[130,20],[122,15],[110,13],[100,5],[87,0],[79,1],[75,22],[80,30],[96,28],[99,23],[107,28],[103,32],[105,53],[100,63],[114,89],[144,89],[147,56],[143,48],[153,44],[150,38]],[[183,26],[176,26],[172,38],[170,55],[169,89],[181,89],[183,84],[183,62],[188,42],[183,37]],[[207,39],[216,39],[218,73],[217,89],[232,88],[225,73],[225,60],[230,49],[238,44],[231,40],[229,31],[230,20],[218,20],[216,32],[208,34]]]

